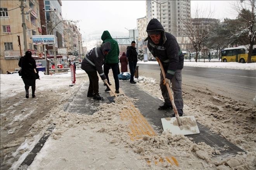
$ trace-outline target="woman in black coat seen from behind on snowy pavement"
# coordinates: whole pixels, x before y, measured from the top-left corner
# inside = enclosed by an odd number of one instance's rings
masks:
[[[32,97],[35,98],[36,90],[36,61],[32,58],[31,51],[26,51],[24,57],[19,59],[19,66],[21,67],[21,78],[25,84],[26,98],[28,98],[29,86],[32,88]]]

